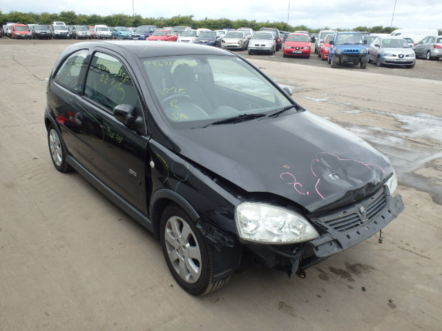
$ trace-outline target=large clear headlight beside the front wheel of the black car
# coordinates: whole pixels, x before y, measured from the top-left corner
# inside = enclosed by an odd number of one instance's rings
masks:
[[[267,203],[244,202],[236,206],[240,238],[257,243],[300,243],[319,237],[300,214]]]

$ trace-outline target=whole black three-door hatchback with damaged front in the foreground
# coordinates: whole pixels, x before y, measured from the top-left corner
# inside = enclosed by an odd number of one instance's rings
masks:
[[[387,157],[226,50],[75,43],[47,93],[55,168],[160,238],[191,294],[224,285],[245,250],[304,277],[404,208]]]

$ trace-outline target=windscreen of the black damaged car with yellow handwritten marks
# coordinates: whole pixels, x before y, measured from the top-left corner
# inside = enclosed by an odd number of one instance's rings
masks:
[[[162,117],[180,128],[192,128],[195,121],[266,114],[292,105],[239,57],[163,57],[144,59],[142,66]]]

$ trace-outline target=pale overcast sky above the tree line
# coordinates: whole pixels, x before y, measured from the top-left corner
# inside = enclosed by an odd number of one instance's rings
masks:
[[[289,10],[290,2],[290,10]],[[356,28],[356,26],[390,26],[395,0],[0,0],[4,13],[61,12],[77,14],[135,14],[142,17],[194,15],[195,19],[247,19],[284,21],[291,26],[309,28]],[[398,28],[442,29],[442,0],[396,0],[393,26]]]

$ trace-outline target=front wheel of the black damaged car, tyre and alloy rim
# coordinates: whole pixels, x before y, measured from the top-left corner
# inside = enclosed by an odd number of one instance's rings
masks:
[[[173,278],[189,294],[207,294],[229,281],[230,275],[222,281],[213,280],[213,258],[209,245],[179,205],[171,203],[164,209],[160,238],[164,259]],[[194,257],[190,257],[190,252],[193,252]]]

